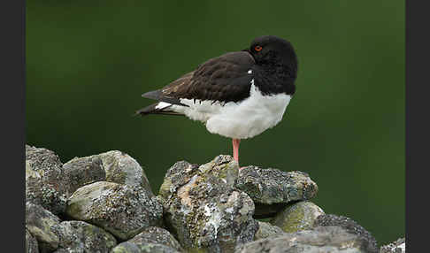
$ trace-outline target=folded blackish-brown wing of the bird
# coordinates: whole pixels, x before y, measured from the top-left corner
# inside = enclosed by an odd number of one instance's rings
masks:
[[[195,71],[142,96],[173,104],[181,104],[180,98],[238,102],[250,96],[252,73],[249,71],[254,64],[249,52],[230,52],[211,58]]]

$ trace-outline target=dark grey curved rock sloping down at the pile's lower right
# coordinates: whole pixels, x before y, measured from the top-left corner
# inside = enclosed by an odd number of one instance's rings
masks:
[[[357,240],[360,241],[360,244],[363,245],[366,252],[378,252],[377,242],[375,238],[370,234],[363,226],[357,224],[356,221],[344,217],[337,216],[334,214],[324,214],[320,215],[313,226],[341,226],[345,229],[349,234],[357,235]]]

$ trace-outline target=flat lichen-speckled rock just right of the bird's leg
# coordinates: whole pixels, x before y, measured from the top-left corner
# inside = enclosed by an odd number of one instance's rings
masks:
[[[274,215],[270,205],[279,210],[282,204],[308,200],[317,195],[318,186],[307,173],[281,172],[278,169],[262,169],[248,166],[241,170],[235,188],[248,194],[256,203],[256,217]],[[260,205],[261,204],[261,209]],[[267,206],[268,205],[268,206]]]

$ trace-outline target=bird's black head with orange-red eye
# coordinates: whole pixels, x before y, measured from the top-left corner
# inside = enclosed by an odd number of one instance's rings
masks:
[[[273,35],[261,36],[255,38],[246,51],[250,52],[257,65],[282,65],[290,77],[296,79],[297,57],[290,42]]]

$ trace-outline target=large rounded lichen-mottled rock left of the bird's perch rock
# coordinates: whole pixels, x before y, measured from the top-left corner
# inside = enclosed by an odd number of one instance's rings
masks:
[[[99,181],[78,188],[69,198],[66,214],[127,240],[160,224],[163,207],[150,196],[145,188]]]

